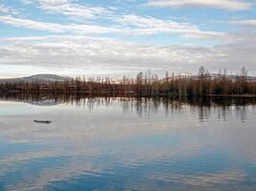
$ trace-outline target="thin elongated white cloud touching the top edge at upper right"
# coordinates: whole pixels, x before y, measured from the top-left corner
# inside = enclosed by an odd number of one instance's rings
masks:
[[[151,0],[151,7],[196,7],[213,8],[225,11],[246,11],[252,9],[252,3],[238,0]]]

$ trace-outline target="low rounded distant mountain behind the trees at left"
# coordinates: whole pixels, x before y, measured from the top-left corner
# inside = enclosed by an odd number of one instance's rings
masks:
[[[67,81],[72,78],[69,76],[61,76],[57,74],[35,74],[26,77],[17,77],[17,78],[0,78],[0,83],[15,83],[19,81],[23,82],[53,82],[53,81]]]

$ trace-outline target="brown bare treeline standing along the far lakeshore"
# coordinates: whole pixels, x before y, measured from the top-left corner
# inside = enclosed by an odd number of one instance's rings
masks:
[[[241,96],[256,95],[256,80],[241,74],[209,74],[203,67],[198,75],[166,73],[164,78],[156,74],[139,73],[136,78],[124,76],[121,80],[76,77],[67,81],[24,82],[0,84],[1,92],[44,92],[81,94],[86,96]]]

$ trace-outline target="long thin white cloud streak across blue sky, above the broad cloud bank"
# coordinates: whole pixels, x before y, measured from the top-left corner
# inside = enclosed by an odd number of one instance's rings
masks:
[[[124,15],[120,19],[115,19],[122,26],[103,27],[100,25],[81,25],[81,24],[56,24],[40,22],[30,19],[15,18],[12,16],[0,16],[0,22],[21,27],[25,29],[46,31],[46,32],[72,32],[79,34],[99,34],[115,33],[125,35],[151,35],[158,33],[168,33],[192,38],[223,39],[224,32],[203,32],[197,26],[177,23],[172,20],[160,20],[152,17],[137,15]]]

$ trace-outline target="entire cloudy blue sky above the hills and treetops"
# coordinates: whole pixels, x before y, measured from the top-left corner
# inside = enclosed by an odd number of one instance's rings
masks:
[[[0,0],[0,77],[256,75],[256,0]]]

